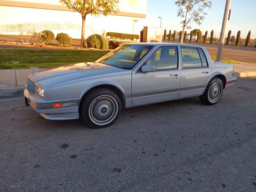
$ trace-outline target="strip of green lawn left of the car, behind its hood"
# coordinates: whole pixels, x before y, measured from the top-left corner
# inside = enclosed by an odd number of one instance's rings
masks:
[[[52,68],[95,61],[109,51],[55,49],[0,49],[0,69]]]

